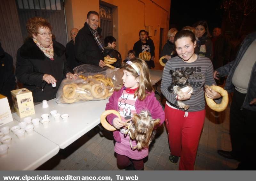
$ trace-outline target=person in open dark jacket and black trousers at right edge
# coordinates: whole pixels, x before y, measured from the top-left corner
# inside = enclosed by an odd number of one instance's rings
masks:
[[[234,92],[230,107],[232,151],[218,154],[241,162],[237,170],[255,170],[256,32],[242,42],[236,59],[214,71],[214,78],[228,75],[225,89]],[[218,76],[219,75],[219,76]]]

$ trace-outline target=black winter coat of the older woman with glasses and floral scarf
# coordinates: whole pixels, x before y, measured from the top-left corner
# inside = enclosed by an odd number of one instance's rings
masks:
[[[71,70],[67,67],[65,47],[57,41],[53,41],[54,60],[44,55],[32,38],[17,51],[16,76],[24,84],[24,87],[33,94],[34,102],[51,100],[56,97],[61,81]],[[52,87],[43,81],[44,74],[50,74],[57,80],[57,86]]]

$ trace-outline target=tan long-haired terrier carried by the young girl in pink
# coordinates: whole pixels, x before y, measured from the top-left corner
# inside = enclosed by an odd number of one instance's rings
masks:
[[[134,114],[132,120],[126,123],[130,137],[137,140],[138,150],[148,148],[156,134],[154,127],[158,124],[160,119],[152,119],[150,112],[146,110],[142,110],[139,115]]]

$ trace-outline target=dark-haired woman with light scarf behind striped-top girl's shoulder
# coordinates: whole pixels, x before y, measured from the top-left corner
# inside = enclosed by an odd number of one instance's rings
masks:
[[[196,36],[195,53],[199,56],[208,57],[212,60],[211,34],[206,21],[198,21],[194,25]]]

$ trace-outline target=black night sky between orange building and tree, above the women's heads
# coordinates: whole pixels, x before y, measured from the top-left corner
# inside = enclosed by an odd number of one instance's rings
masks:
[[[180,30],[184,26],[192,26],[196,21],[206,20],[210,33],[214,27],[221,27],[221,0],[171,1],[170,25]]]

